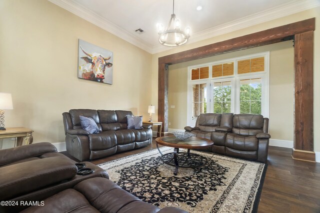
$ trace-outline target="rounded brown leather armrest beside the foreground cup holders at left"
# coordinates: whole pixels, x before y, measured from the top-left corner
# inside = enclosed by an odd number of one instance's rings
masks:
[[[67,158],[52,157],[0,168],[0,200],[9,200],[43,189],[76,175],[77,167]]]

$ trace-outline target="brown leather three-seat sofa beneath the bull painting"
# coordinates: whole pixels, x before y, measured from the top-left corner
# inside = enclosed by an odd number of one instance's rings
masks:
[[[84,161],[137,149],[152,142],[151,125],[143,129],[127,129],[126,116],[130,111],[71,109],[62,113],[66,151],[74,158]],[[79,116],[92,118],[99,133],[89,134],[81,127]]]

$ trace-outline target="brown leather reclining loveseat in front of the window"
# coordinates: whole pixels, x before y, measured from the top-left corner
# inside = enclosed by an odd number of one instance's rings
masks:
[[[184,129],[196,137],[212,140],[214,145],[207,151],[266,163],[268,121],[262,115],[205,113],[197,117],[195,127]]]

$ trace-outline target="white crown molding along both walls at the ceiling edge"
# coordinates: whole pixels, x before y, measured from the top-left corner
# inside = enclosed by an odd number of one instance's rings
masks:
[[[76,0],[48,0],[69,12],[91,22],[92,24],[112,33],[113,35],[122,38],[123,40],[151,53],[166,51],[174,47],[166,47],[161,44],[152,46],[149,43],[141,40],[140,38],[130,34],[128,31],[116,26],[107,19],[97,15],[96,13],[84,8],[82,5],[76,2]],[[205,40],[217,35],[222,35],[235,30],[253,26],[259,23],[270,21],[276,18],[284,17],[290,14],[294,14],[303,10],[311,9],[313,7],[320,6],[319,0],[294,0],[279,6],[275,6],[266,9],[261,12],[239,18],[234,21],[230,21],[218,26],[202,30],[200,32],[191,35],[187,43],[194,43],[197,41]]]

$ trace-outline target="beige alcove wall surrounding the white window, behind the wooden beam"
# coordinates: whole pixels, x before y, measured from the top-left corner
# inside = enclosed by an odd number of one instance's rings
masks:
[[[226,53],[169,66],[168,104],[170,129],[187,123],[187,66],[270,51],[269,119],[272,139],[293,141],[293,47],[292,41]],[[170,106],[174,105],[174,108]]]

